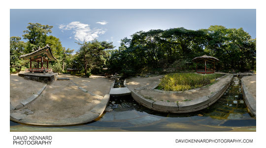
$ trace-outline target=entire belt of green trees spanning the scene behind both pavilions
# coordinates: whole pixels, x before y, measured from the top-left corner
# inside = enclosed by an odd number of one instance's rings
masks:
[[[210,26],[208,29],[187,30],[173,28],[168,30],[139,31],[131,38],[121,39],[118,49],[112,42],[84,41],[77,43],[74,50],[62,46],[59,38],[49,35],[53,26],[29,23],[23,38],[10,37],[10,72],[29,68],[29,60],[19,59],[48,44],[57,61],[49,62],[54,72],[66,72],[67,68],[78,69],[83,75],[102,73],[123,73],[131,76],[136,73],[162,72],[169,68],[174,71],[195,71],[192,59],[202,55],[220,59],[216,70],[256,71],[256,39],[240,29],[227,29],[223,26]],[[33,62],[33,67],[36,66]],[[44,64],[44,66],[46,66]],[[104,71],[102,68],[107,67]],[[203,69],[203,63],[198,69]],[[209,63],[208,68],[213,65]],[[15,69],[15,70],[14,70]],[[76,73],[76,72],[75,72]]]

